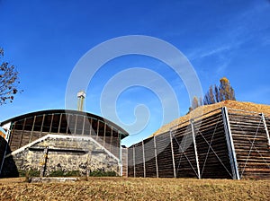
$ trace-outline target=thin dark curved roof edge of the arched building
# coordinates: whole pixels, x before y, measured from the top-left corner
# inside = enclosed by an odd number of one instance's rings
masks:
[[[88,113],[85,111],[77,111],[77,110],[72,110],[72,109],[47,109],[47,110],[40,110],[40,111],[34,111],[34,112],[30,112],[27,114],[23,114],[14,118],[9,118],[7,120],[4,120],[3,122],[0,123],[0,126],[3,126],[9,122],[14,122],[14,121],[18,121],[21,120],[23,118],[31,118],[34,116],[40,116],[40,115],[46,115],[46,114],[74,114],[74,115],[80,115],[80,116],[85,116],[87,118],[95,118],[98,120],[101,120],[103,122],[106,122],[108,125],[115,127],[117,130],[119,130],[121,132],[122,138],[126,137],[129,135],[129,133],[127,131],[125,131],[123,128],[117,126],[116,124],[114,124],[112,121],[106,119],[106,118],[102,118],[100,116],[94,115],[92,113]]]

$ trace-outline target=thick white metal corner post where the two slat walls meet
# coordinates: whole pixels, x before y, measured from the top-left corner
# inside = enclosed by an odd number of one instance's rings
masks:
[[[238,162],[237,162],[236,153],[235,153],[235,147],[233,144],[233,139],[232,139],[230,125],[229,125],[228,109],[226,107],[222,107],[221,113],[222,113],[222,118],[223,118],[224,129],[225,129],[226,141],[228,145],[229,162],[230,162],[232,177],[233,179],[240,179],[239,171],[238,171]]]

